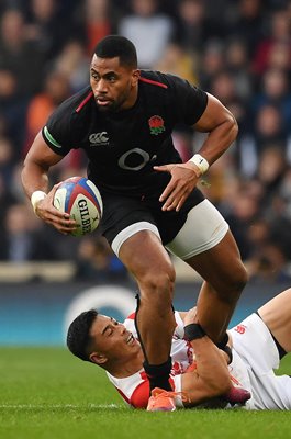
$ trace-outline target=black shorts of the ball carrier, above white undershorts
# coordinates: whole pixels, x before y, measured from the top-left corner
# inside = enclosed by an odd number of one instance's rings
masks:
[[[157,196],[124,196],[102,191],[103,216],[100,229],[111,245],[124,228],[135,223],[148,222],[158,228],[161,241],[166,245],[183,226],[188,212],[203,200],[204,195],[194,189],[179,212],[164,212],[163,203]]]

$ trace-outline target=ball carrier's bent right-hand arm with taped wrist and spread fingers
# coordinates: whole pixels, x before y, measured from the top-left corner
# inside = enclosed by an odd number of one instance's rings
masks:
[[[154,167],[169,172],[171,179],[161,193],[163,211],[179,211],[195,188],[199,178],[215,162],[235,140],[238,127],[234,115],[212,94],[208,93],[206,108],[193,125],[195,131],[208,133],[199,156],[194,155],[186,164],[169,164]],[[201,162],[200,162],[201,160]]]

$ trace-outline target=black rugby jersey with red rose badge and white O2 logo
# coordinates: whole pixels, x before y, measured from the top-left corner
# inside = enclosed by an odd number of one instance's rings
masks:
[[[161,193],[170,176],[153,166],[181,162],[171,133],[177,124],[193,125],[203,114],[208,95],[172,75],[142,70],[133,108],[100,112],[88,86],[64,101],[43,128],[46,144],[65,156],[82,148],[88,177],[115,193]]]

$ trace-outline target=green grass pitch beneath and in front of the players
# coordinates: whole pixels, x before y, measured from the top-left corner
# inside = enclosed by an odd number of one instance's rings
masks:
[[[288,439],[290,420],[289,412],[133,410],[102,370],[66,349],[0,349],[0,439]]]

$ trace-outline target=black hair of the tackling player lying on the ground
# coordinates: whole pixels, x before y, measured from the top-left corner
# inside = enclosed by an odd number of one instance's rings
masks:
[[[91,341],[89,333],[97,316],[98,312],[96,309],[86,311],[76,317],[68,328],[67,347],[74,356],[83,361],[91,361],[88,352]]]

